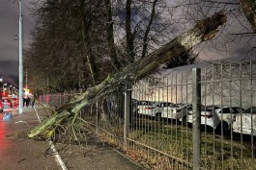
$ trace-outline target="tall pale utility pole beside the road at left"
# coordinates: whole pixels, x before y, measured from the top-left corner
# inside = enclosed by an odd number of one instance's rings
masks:
[[[23,35],[22,35],[22,12],[21,12],[21,0],[18,1],[18,8],[19,8],[19,25],[18,25],[18,40],[19,40],[19,91],[18,91],[18,101],[19,101],[19,114],[23,113]]]

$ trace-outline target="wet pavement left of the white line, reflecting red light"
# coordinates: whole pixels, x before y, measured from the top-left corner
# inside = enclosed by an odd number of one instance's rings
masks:
[[[25,109],[23,114],[12,112],[11,120],[2,120],[0,113],[0,169],[43,170],[60,169],[54,158],[44,157],[47,142],[26,137],[29,130],[38,124],[34,109]]]

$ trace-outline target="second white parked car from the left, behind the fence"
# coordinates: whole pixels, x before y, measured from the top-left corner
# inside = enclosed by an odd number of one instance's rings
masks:
[[[191,109],[191,104],[171,104],[162,109],[161,117],[167,119],[179,119],[182,121],[187,115],[188,110]]]

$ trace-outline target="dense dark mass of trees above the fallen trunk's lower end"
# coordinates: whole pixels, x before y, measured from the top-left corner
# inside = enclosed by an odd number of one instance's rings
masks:
[[[46,0],[36,4],[34,12],[37,24],[33,41],[26,49],[25,64],[31,76],[35,73],[34,79],[42,80],[46,86],[50,85],[45,88],[53,91],[86,88],[98,81],[93,79],[96,73],[104,72],[101,69],[97,71],[100,65],[96,66],[99,61],[96,59],[98,51],[104,51],[100,44],[105,43],[102,40],[104,13],[101,12],[103,6],[100,4],[100,1],[94,1],[85,5],[70,0]],[[92,12],[89,12],[90,9]],[[87,18],[84,18],[85,14],[81,12],[91,15],[87,14]],[[99,56],[100,59],[102,56]],[[92,77],[93,73],[95,75]],[[43,83],[45,77],[50,84]]]

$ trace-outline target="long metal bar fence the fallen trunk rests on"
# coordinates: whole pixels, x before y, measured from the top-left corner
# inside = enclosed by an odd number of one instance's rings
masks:
[[[199,66],[120,85],[81,110],[85,128],[152,169],[256,169],[256,62]]]

